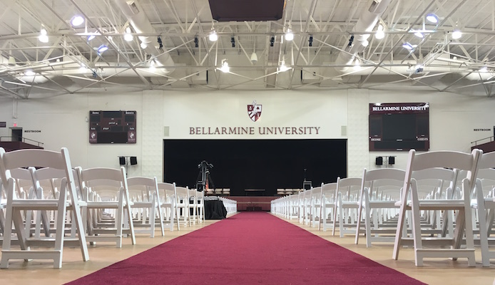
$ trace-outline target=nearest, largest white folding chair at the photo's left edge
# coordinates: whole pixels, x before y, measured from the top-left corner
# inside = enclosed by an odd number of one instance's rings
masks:
[[[19,199],[19,197],[16,197],[14,195],[16,180],[10,176],[9,170],[18,167],[53,167],[64,170],[66,177],[61,181],[58,199],[39,199],[38,197],[34,199]],[[0,177],[7,192],[6,226],[4,227],[1,268],[7,268],[9,266],[9,259],[53,259],[53,267],[61,268],[64,243],[71,246],[77,244],[81,248],[83,261],[89,259],[83,222],[81,220],[80,202],[76,193],[76,185],[74,184],[71,160],[68,150],[65,147],[60,152],[32,149],[5,152],[0,147]],[[67,197],[70,197],[70,199],[67,199]],[[21,215],[21,211],[26,209],[33,211],[57,211],[57,222],[53,224],[55,227],[54,239],[31,239],[26,236],[24,231],[26,225]],[[64,237],[67,209],[73,209],[73,222],[76,223],[77,238],[73,239],[73,242]],[[12,223],[14,223],[14,229],[16,230],[21,250],[11,249]],[[71,243],[69,244],[69,242]],[[51,247],[52,249],[34,250],[33,247],[37,246]]]

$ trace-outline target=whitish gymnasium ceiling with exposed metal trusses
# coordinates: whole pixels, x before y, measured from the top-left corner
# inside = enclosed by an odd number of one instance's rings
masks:
[[[4,96],[102,86],[218,90],[384,84],[449,91],[475,87],[491,96],[495,82],[495,0],[287,0],[280,20],[228,22],[213,20],[208,0],[0,3]],[[439,17],[437,24],[427,21],[430,13]],[[73,27],[76,14],[86,21]],[[379,25],[382,39],[374,36]],[[123,39],[128,27],[132,41]],[[41,28],[47,31],[46,43],[39,41]],[[287,28],[293,41],[284,39]],[[213,29],[219,36],[215,42],[208,39]],[[456,29],[462,36],[454,39]],[[414,35],[417,31],[423,38]],[[91,34],[96,38],[88,41]],[[98,53],[101,45],[108,50]],[[354,67],[356,59],[360,68]],[[223,60],[229,73],[218,69]],[[288,71],[280,70],[282,61]]]

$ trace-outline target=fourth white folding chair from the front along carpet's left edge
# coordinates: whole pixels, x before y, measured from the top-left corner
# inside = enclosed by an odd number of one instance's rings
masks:
[[[177,205],[177,191],[175,190],[175,182],[159,182],[158,192],[160,192],[160,198],[162,199],[160,207],[163,211],[162,217],[164,222],[169,222],[170,232],[173,231],[173,223],[177,219],[177,229],[180,230],[179,223],[179,209]]]

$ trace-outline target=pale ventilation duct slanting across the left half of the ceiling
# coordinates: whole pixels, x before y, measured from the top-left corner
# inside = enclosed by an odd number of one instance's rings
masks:
[[[143,12],[143,9],[141,9],[136,1],[114,1],[122,10],[123,14],[126,15],[136,33],[157,34],[153,26],[151,26],[148,17],[146,17],[146,14]],[[146,48],[144,48],[144,50],[146,51],[146,53],[154,58],[155,62],[157,63],[156,66],[169,67],[175,65],[173,59],[170,57],[170,53],[165,53],[165,48],[157,48],[155,46],[155,44],[158,43],[156,36],[139,36],[139,39],[141,40],[143,46],[146,45]],[[166,72],[170,73],[172,71],[173,68],[166,68]]]

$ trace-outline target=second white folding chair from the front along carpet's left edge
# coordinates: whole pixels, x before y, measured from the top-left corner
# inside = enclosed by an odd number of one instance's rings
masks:
[[[129,234],[136,244],[126,169],[89,168],[81,171],[80,180],[86,207],[96,215],[89,223],[88,242],[115,242],[116,247],[122,247],[123,234]],[[104,217],[108,217],[106,221]]]

